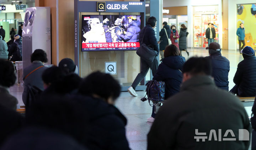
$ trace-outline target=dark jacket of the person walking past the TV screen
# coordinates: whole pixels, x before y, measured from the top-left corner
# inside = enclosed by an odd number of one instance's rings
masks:
[[[143,35],[144,35],[144,32],[146,31],[145,33],[145,36],[144,36],[144,39],[143,39]],[[143,41],[142,41],[143,39]],[[140,44],[145,43],[146,45],[152,45],[154,50],[157,52],[156,56],[159,55],[159,45],[158,45],[158,42],[156,40],[156,36],[155,36],[155,31],[154,29],[148,24],[146,25],[139,33],[139,42]]]

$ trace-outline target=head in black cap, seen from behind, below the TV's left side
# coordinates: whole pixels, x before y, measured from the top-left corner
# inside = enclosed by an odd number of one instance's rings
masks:
[[[78,74],[78,67],[74,61],[70,58],[64,58],[59,62],[59,68],[62,69],[65,74],[75,73]]]

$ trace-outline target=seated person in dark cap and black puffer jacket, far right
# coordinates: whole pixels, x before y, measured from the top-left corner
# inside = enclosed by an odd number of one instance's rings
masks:
[[[244,60],[238,64],[234,76],[235,86],[230,92],[240,97],[254,97],[256,95],[256,57],[254,50],[246,46],[241,50]]]

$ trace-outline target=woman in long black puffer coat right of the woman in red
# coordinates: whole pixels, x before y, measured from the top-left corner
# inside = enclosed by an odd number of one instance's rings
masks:
[[[181,25],[181,31],[180,31],[180,39],[179,39],[179,48],[180,51],[185,50],[187,52],[187,55],[189,55],[188,51],[187,51],[187,27],[182,24]]]

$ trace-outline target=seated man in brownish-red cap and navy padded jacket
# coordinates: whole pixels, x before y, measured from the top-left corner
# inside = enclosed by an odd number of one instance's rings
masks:
[[[209,50],[209,58],[212,61],[212,76],[217,87],[229,90],[228,74],[230,70],[229,60],[222,56],[220,44],[213,42],[206,48]]]

